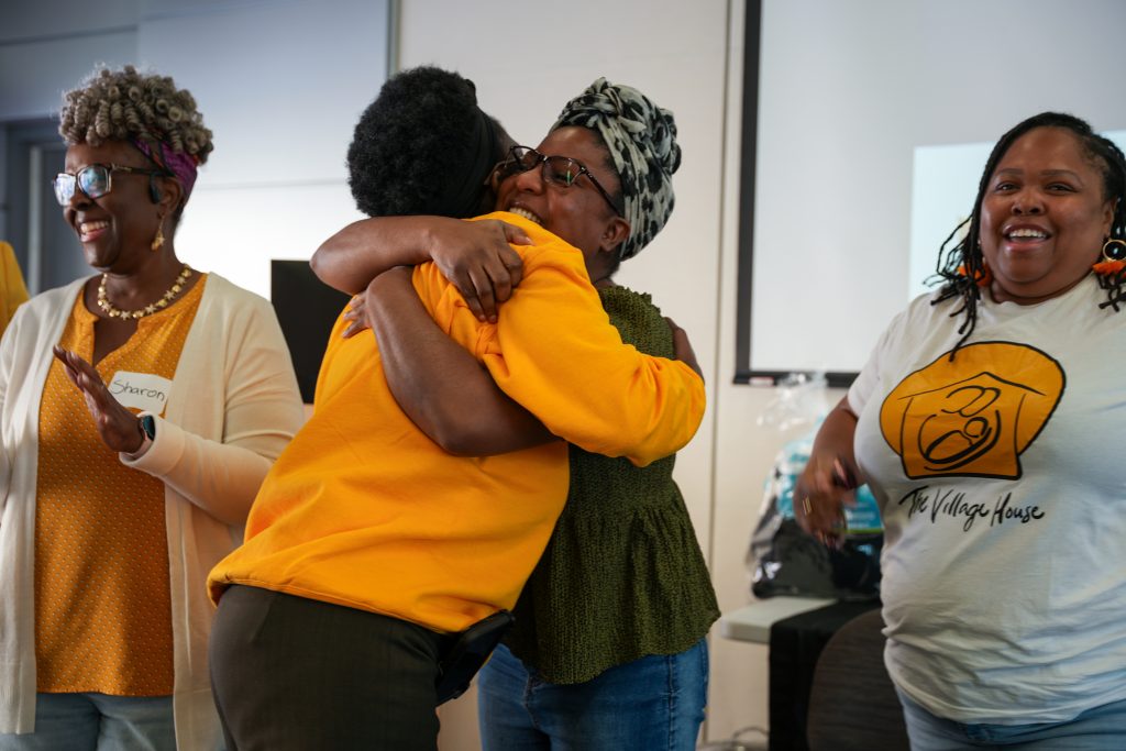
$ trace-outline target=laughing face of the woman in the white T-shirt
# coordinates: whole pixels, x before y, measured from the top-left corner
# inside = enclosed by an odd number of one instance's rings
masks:
[[[1039,127],[998,161],[981,204],[982,254],[993,298],[1028,305],[1090,272],[1110,232],[1102,173],[1064,128]]]

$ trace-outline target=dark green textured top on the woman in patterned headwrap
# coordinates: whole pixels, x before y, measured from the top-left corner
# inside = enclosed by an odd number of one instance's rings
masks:
[[[622,339],[673,356],[649,295],[599,289]],[[579,683],[650,654],[676,654],[720,617],[704,554],[672,480],[674,456],[636,467],[571,447],[571,489],[504,643],[552,683]]]

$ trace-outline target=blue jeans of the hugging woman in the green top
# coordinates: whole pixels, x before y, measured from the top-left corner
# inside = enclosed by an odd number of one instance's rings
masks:
[[[501,645],[477,677],[484,751],[691,751],[707,705],[707,644],[572,685],[547,683]]]

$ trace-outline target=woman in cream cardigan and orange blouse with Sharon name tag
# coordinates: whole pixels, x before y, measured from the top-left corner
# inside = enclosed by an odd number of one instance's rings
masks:
[[[211,153],[126,65],[65,95],[63,220],[97,271],[0,343],[0,750],[217,749],[207,571],[301,424],[269,303],[179,260]]]

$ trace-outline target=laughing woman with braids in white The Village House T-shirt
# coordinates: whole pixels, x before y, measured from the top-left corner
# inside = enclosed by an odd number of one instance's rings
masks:
[[[912,749],[1124,749],[1123,152],[1031,117],[967,224],[817,433],[798,519],[834,544],[851,488],[879,500]]]

